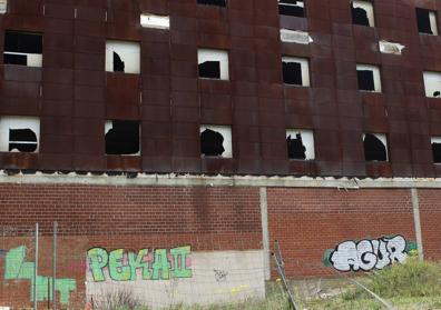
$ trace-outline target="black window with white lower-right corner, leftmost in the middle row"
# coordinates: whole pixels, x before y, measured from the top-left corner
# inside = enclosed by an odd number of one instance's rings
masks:
[[[42,34],[7,30],[4,32],[4,64],[42,66]]]

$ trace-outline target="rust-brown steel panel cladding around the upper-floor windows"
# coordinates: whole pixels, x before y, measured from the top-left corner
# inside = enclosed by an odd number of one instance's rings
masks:
[[[37,116],[39,154],[1,154],[0,168],[354,177],[433,177],[430,137],[441,134],[440,99],[423,71],[441,71],[441,39],[418,33],[415,7],[373,1],[375,28],[353,26],[347,0],[306,1],[306,18],[278,16],[276,0],[14,0],[4,30],[43,33],[43,68],[2,66],[0,114]],[[170,17],[147,29],[139,14]],[[438,13],[438,18],[440,14]],[[308,31],[311,44],[282,43],[280,29]],[[405,46],[379,52],[380,40]],[[105,72],[106,40],[140,43],[140,74]],[[229,80],[198,79],[197,49],[228,51]],[[282,56],[310,60],[310,88],[285,86]],[[381,70],[381,93],[357,90],[356,64]],[[141,123],[141,156],[105,156],[106,119]],[[71,132],[57,127],[71,126]],[[94,123],[94,126],[89,126]],[[203,159],[199,124],[231,126],[233,159]],[[316,160],[287,159],[285,130],[315,132]],[[385,133],[389,163],[364,161],[362,134]]]

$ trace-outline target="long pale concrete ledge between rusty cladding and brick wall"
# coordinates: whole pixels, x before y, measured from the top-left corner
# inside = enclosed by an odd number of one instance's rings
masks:
[[[8,174],[0,170],[0,184],[77,184],[77,186],[125,186],[125,187],[282,187],[282,188],[336,188],[356,190],[362,188],[441,188],[441,179],[357,179],[357,178],[310,178],[265,176],[204,176],[204,174],[146,174],[92,176],[55,172],[47,174]]]

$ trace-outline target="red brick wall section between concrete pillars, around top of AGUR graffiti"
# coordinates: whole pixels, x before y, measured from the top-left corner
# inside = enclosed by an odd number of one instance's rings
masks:
[[[268,189],[270,238],[290,277],[333,276],[323,256],[346,240],[402,234],[415,240],[410,190]]]

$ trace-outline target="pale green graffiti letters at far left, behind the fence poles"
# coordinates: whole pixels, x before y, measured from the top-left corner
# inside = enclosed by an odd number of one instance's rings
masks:
[[[21,246],[8,251],[4,261],[6,280],[30,280],[31,288],[37,288],[37,297],[31,289],[31,301],[53,300],[51,296],[51,277],[35,277],[36,263],[26,261],[26,247]],[[59,292],[60,302],[69,303],[70,292],[77,289],[75,279],[56,279],[56,291]]]

